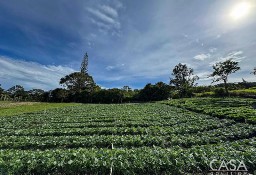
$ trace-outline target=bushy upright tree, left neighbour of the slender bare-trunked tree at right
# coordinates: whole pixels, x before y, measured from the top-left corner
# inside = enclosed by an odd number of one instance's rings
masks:
[[[199,79],[198,76],[194,76],[194,70],[188,68],[186,64],[179,63],[172,70],[174,78],[170,78],[170,85],[174,85],[179,91],[180,97],[191,96],[191,88],[195,86],[195,81]]]

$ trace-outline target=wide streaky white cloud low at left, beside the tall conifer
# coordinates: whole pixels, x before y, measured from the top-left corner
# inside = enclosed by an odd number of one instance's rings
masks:
[[[66,66],[41,65],[3,56],[0,56],[0,64],[0,78],[5,86],[20,84],[27,89],[60,87],[60,78],[75,71]]]

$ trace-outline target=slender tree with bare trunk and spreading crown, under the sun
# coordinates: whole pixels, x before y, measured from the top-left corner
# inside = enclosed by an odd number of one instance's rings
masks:
[[[213,83],[218,81],[224,82],[225,92],[228,94],[228,76],[232,73],[235,73],[240,69],[238,62],[228,59],[224,62],[218,62],[212,66],[213,73],[209,77],[213,77]]]

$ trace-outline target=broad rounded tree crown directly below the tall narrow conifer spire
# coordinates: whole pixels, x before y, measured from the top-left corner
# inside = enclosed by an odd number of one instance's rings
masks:
[[[83,90],[91,91],[95,85],[92,76],[81,72],[73,72],[60,79],[60,84],[72,93],[81,93]]]

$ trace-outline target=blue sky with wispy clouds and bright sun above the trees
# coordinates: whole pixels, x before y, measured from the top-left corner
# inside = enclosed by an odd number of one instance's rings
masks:
[[[229,82],[256,81],[255,31],[256,0],[0,0],[0,84],[58,88],[85,52],[103,88],[169,83],[178,63],[207,85],[229,58]]]

